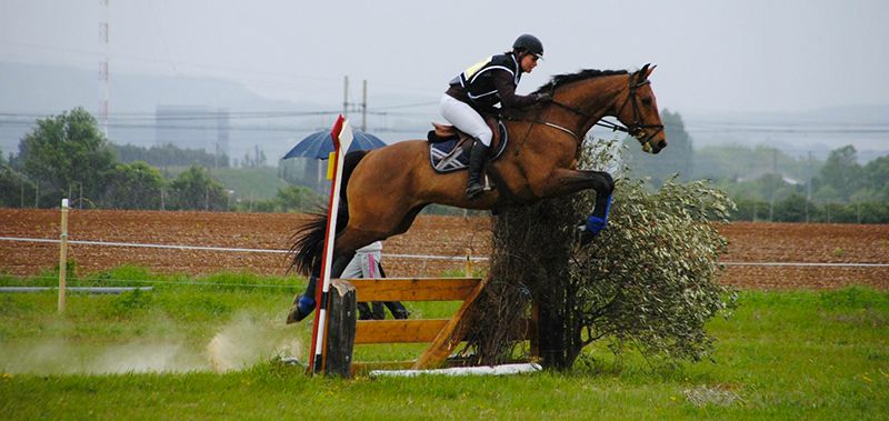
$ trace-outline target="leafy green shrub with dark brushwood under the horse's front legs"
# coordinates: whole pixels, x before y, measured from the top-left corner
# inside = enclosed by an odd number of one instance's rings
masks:
[[[599,149],[586,167],[612,162]],[[571,367],[600,339],[616,353],[632,345],[669,361],[700,360],[713,352],[705,323],[736,305],[719,283],[727,241],[717,225],[733,203],[707,182],[666,180],[657,192],[643,180],[616,183],[609,227],[589,245],[578,244],[578,224],[593,209],[593,191],[511,208],[495,219],[492,281],[482,300],[483,320],[472,332],[483,363],[508,359],[509,332],[540,309],[545,364]]]

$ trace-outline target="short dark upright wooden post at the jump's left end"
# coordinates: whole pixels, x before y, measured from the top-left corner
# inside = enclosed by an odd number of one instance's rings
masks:
[[[328,313],[323,358],[324,373],[347,379],[352,375],[354,333],[354,287],[349,282],[336,279],[330,283],[330,313]]]

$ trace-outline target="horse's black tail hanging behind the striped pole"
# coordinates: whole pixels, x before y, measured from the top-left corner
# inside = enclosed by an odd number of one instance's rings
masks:
[[[337,212],[337,233],[346,229],[346,224],[349,222],[349,200],[346,197],[346,188],[349,186],[349,178],[352,176],[352,171],[358,166],[358,162],[364,158],[364,154],[367,154],[367,151],[354,151],[343,157],[340,207]],[[290,247],[290,252],[293,254],[293,260],[290,263],[291,270],[306,275],[320,272],[324,254],[327,213],[326,209],[310,213],[309,220],[290,237],[291,241],[293,241],[293,245]]]

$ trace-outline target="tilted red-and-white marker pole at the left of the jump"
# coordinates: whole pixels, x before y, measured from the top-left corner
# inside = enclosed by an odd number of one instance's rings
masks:
[[[340,207],[340,181],[342,180],[342,161],[349,146],[352,144],[352,128],[349,120],[342,114],[337,118],[333,130],[330,131],[333,139],[333,154],[328,166],[332,167],[332,181],[330,184],[330,202],[328,203],[327,230],[324,231],[324,260],[321,264],[321,289],[316,288],[314,302],[318,303],[318,311],[314,312],[314,323],[312,324],[312,345],[309,352],[312,355],[312,363],[309,373],[314,374],[323,370],[323,349],[327,338],[324,324],[327,322],[328,291],[330,291],[330,267],[333,263],[333,241],[337,237],[337,214]],[[330,174],[330,167],[328,173]]]

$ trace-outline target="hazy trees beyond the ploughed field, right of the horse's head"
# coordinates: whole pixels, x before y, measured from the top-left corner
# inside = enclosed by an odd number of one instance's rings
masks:
[[[679,113],[665,111],[661,118],[670,146],[658,156],[623,140],[630,177],[648,178],[653,188],[672,179],[711,180],[735,201],[733,220],[889,222],[889,157],[861,166],[852,146],[832,150],[826,161],[763,146],[693,149]]]

